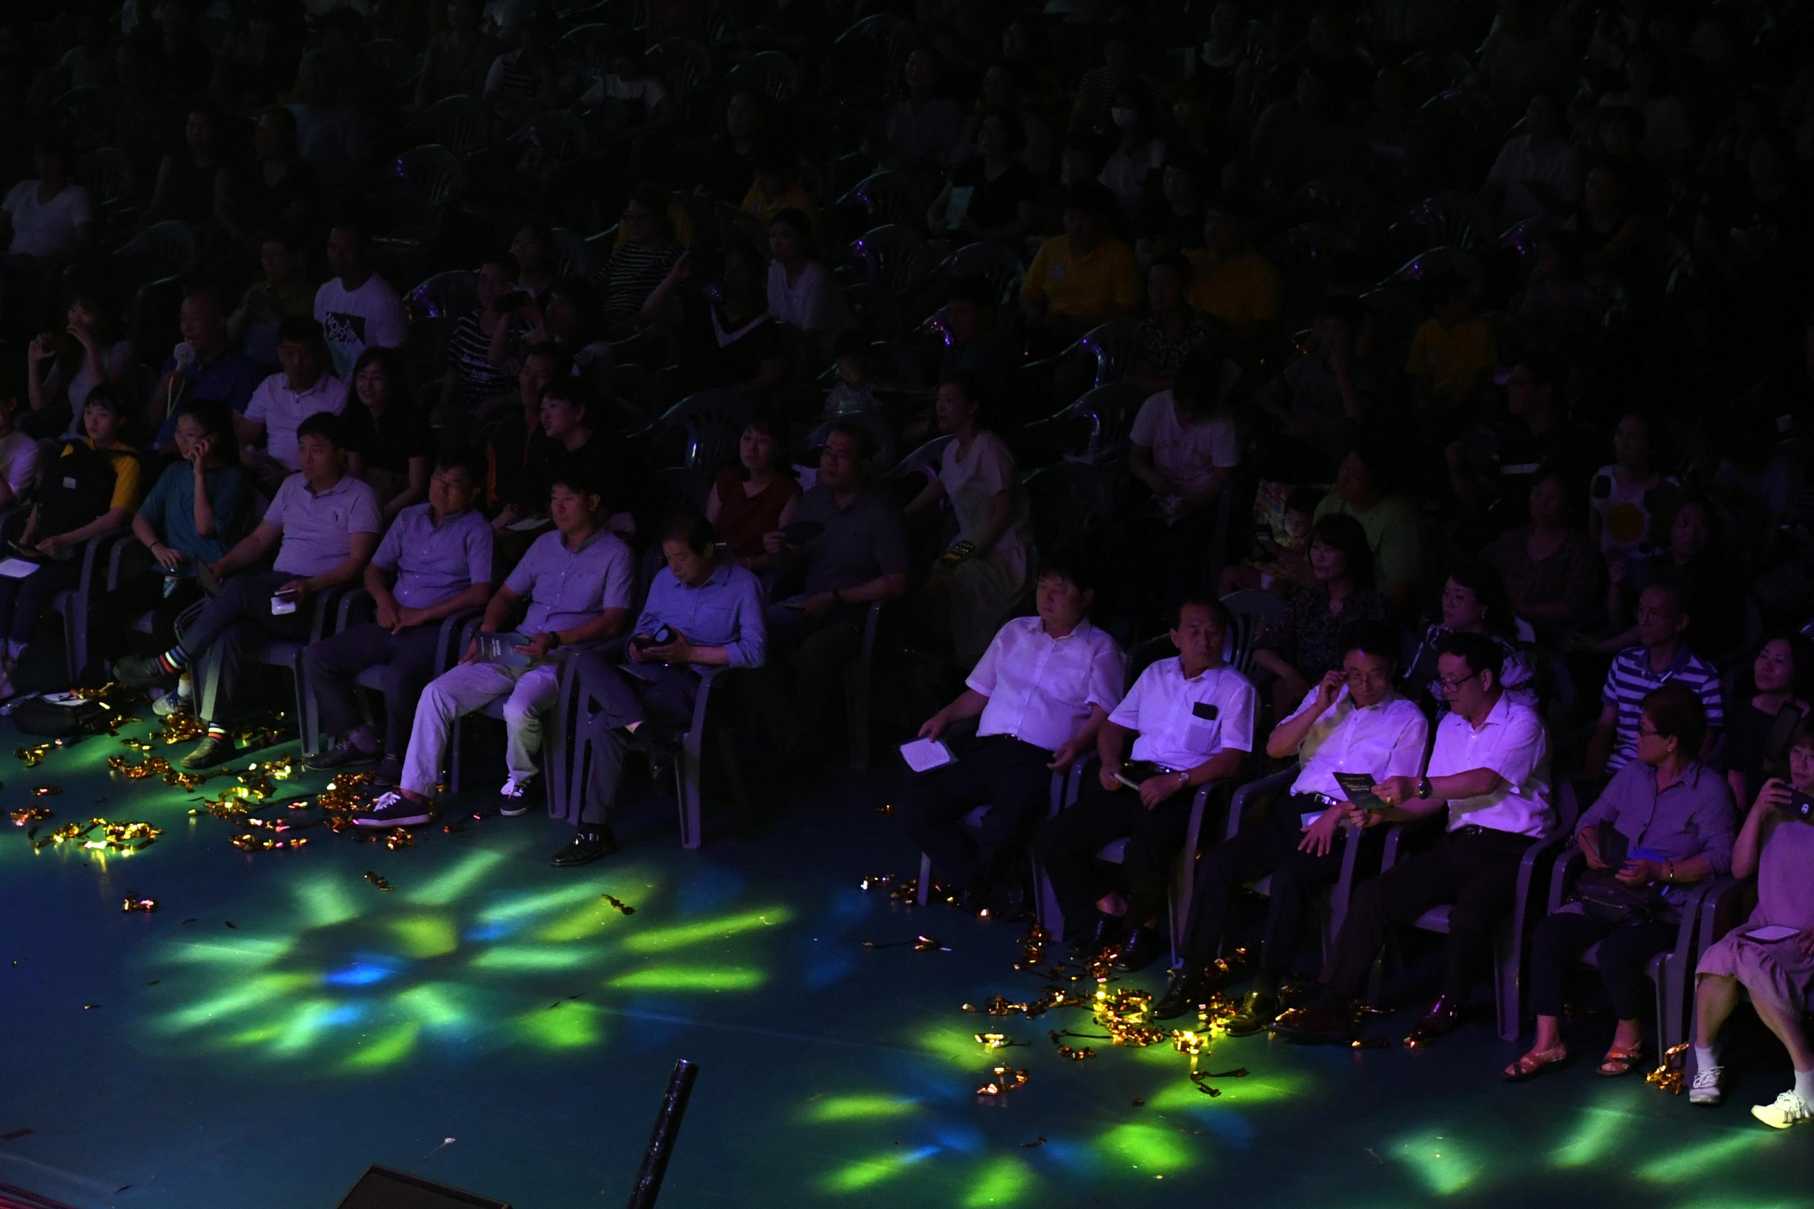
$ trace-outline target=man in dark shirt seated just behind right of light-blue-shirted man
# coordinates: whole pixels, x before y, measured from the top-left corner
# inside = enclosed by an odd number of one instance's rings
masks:
[[[869,433],[854,424],[833,428],[818,457],[818,484],[800,497],[789,533],[762,540],[782,564],[767,613],[764,680],[787,763],[804,754],[807,736],[827,732],[838,672],[862,649],[871,602],[907,591],[902,509],[869,486],[867,457]],[[791,691],[782,669],[793,672]]]

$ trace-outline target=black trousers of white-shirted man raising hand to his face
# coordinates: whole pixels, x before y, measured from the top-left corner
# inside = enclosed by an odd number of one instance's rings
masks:
[[[1341,879],[1342,846],[1355,841],[1346,828],[1337,828],[1326,856],[1299,852],[1297,845],[1304,839],[1301,816],[1312,810],[1322,810],[1322,803],[1292,794],[1275,803],[1266,817],[1248,823],[1234,839],[1215,845],[1197,861],[1190,921],[1185,924],[1186,964],[1206,966],[1215,961],[1235,892],[1243,883],[1272,874],[1259,968],[1273,977],[1292,972],[1312,895]]]

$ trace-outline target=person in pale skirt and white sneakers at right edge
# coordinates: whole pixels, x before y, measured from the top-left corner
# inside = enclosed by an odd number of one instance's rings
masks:
[[[1727,932],[1694,972],[1694,1082],[1691,1104],[1725,1098],[1720,1030],[1751,995],[1758,1019],[1789,1049],[1796,1082],[1751,1115],[1776,1129],[1814,1122],[1814,1039],[1801,1024],[1814,984],[1814,821],[1799,808],[1814,794],[1814,721],[1801,720],[1789,740],[1789,779],[1770,778],[1751,803],[1732,846],[1732,875],[1758,879],[1751,919]]]

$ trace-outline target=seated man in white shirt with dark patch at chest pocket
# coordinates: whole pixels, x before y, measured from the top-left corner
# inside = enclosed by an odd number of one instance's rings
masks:
[[[1172,627],[1175,658],[1141,672],[1096,736],[1103,758],[1078,805],[1039,828],[1036,852],[1058,895],[1078,953],[1116,946],[1116,964],[1139,970],[1159,955],[1172,866],[1190,828],[1199,785],[1230,778],[1253,749],[1255,694],[1223,663],[1228,609],[1188,598]],[[1128,734],[1132,759],[1126,754]],[[1116,894],[1096,854],[1128,837],[1121,868],[1128,894]]]

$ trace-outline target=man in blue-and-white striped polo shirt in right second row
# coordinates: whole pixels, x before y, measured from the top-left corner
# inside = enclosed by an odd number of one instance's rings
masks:
[[[1600,723],[1587,743],[1587,776],[1604,778],[1629,765],[1638,752],[1638,716],[1651,689],[1682,683],[1694,691],[1707,711],[1707,740],[1696,758],[1705,758],[1725,725],[1720,671],[1689,651],[1687,605],[1671,584],[1651,584],[1638,596],[1638,645],[1613,660],[1600,692]],[[1584,799],[1585,801],[1585,799]]]

